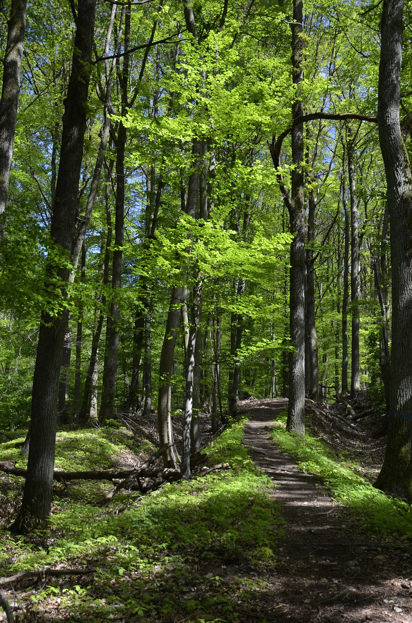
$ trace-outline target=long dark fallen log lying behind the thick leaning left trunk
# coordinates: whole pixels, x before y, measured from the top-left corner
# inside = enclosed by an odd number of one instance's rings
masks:
[[[159,450],[152,454],[142,465],[132,470],[126,470],[123,472],[109,472],[107,470],[101,472],[54,472],[53,480],[118,480],[119,478],[128,478],[132,475],[135,477],[146,476],[144,473],[150,465],[152,465],[161,455],[164,450],[170,448],[174,444],[164,444]],[[15,467],[14,461],[0,461],[0,472],[11,473],[14,476],[27,477],[27,470]]]

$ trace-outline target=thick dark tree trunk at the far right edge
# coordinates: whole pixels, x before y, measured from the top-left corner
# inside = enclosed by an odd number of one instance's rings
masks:
[[[384,0],[378,126],[388,186],[393,313],[388,442],[376,486],[412,503],[412,175],[399,118],[402,15],[403,0]]]

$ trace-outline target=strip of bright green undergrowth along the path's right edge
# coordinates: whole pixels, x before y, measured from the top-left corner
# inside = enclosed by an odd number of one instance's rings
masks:
[[[278,447],[295,457],[304,472],[321,477],[335,500],[350,508],[368,531],[412,539],[410,505],[374,488],[355,471],[352,461],[340,457],[338,460],[334,450],[321,439],[311,434],[302,437],[286,432],[286,417],[286,414],[278,416],[271,433]]]

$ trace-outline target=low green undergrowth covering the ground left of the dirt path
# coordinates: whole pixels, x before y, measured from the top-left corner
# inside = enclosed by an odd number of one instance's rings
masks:
[[[84,444],[77,455],[76,437],[68,435],[57,444],[57,464],[89,469],[99,452],[106,462],[128,443],[116,434],[111,431],[108,439],[96,429],[93,457]],[[271,482],[242,440],[243,423],[236,423],[205,450],[209,465],[230,464],[221,472],[167,484],[144,497],[118,493],[103,508],[90,502],[96,490],[80,500],[72,495],[76,485],[65,491],[59,485],[47,531],[16,538],[3,530],[4,576],[47,566],[97,568],[90,576],[50,578],[19,594],[30,621],[44,621],[49,611],[59,614],[52,620],[64,621],[253,620],[239,611],[259,607],[268,591],[261,576],[273,570],[283,528],[269,495]]]

